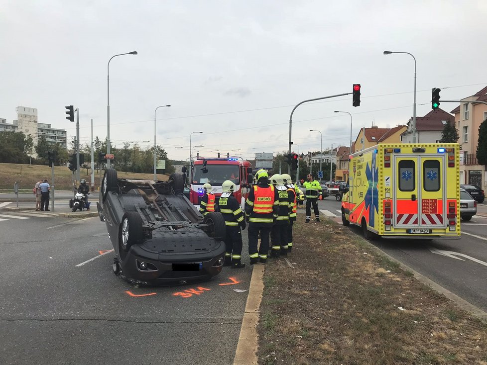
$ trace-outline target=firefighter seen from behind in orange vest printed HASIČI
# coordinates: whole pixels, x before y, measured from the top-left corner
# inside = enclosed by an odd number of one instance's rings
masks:
[[[279,210],[279,194],[274,186],[269,185],[265,170],[255,174],[257,184],[250,190],[245,201],[245,218],[248,224],[248,255],[250,265],[260,261],[267,262],[269,234],[276,222]],[[257,250],[257,237],[260,233],[260,247]]]

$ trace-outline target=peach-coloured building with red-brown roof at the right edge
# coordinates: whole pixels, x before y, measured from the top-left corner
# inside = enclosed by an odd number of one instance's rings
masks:
[[[460,183],[473,184],[486,189],[486,169],[477,161],[477,145],[479,127],[487,119],[487,105],[465,101],[487,101],[487,87],[461,99],[460,105],[452,110],[460,136]]]

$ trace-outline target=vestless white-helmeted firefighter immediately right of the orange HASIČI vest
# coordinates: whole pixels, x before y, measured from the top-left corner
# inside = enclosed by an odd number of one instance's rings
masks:
[[[279,195],[279,211],[277,213],[276,223],[270,231],[270,240],[272,242],[271,257],[287,255],[288,239],[287,232],[289,227],[289,214],[292,211],[294,195],[287,191],[284,186],[282,176],[279,174],[272,175],[270,180]]]

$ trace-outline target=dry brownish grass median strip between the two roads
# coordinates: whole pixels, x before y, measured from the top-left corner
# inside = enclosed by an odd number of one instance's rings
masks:
[[[259,364],[487,365],[487,324],[348,228],[305,224],[264,273]]]

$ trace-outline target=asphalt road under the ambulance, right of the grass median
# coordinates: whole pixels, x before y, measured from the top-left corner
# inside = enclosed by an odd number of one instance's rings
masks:
[[[341,202],[333,196],[319,201],[322,215],[337,223]],[[478,213],[487,212],[486,204],[478,205]],[[313,214],[312,214],[313,216]],[[372,239],[370,243],[405,265],[451,292],[487,311],[487,216],[476,215],[469,222],[461,221],[459,240],[391,240]],[[359,227],[350,229],[362,235]]]

